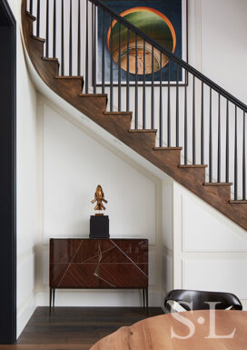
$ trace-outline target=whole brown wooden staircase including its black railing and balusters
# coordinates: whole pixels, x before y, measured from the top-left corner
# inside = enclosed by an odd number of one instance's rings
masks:
[[[70,0],[66,2],[69,11],[64,8],[64,0],[50,2],[22,2],[25,47],[44,83],[246,230],[247,106],[100,1]],[[96,18],[100,15],[111,29],[114,25],[118,25],[119,33],[121,27],[126,29],[124,74],[121,58],[118,65],[113,59],[110,67],[105,65],[104,28],[102,54],[100,57],[96,54]],[[68,40],[64,35],[67,31]],[[114,55],[112,40],[108,47],[111,57]],[[123,36],[119,35],[119,57],[122,41]],[[142,75],[138,72],[137,58],[135,74],[130,72],[131,41],[135,52],[140,49],[140,43],[143,45]],[[145,47],[152,53],[152,72],[145,72]],[[160,57],[158,85],[153,79],[154,55]],[[102,64],[101,84],[96,78],[97,60]],[[165,60],[167,64],[163,66]],[[172,69],[176,72],[173,80]],[[117,85],[114,72],[117,72]],[[135,78],[133,82],[130,82],[131,75]],[[146,81],[148,75],[151,76],[149,82]],[[165,86],[163,76],[167,80]]]

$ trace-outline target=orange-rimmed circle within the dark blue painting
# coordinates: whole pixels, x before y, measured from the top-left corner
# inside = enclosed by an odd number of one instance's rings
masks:
[[[141,29],[143,33],[151,36],[158,44],[174,52],[176,47],[176,34],[171,21],[161,12],[150,7],[133,7],[122,14],[124,19]],[[129,31],[129,50],[127,48],[127,28],[114,21],[108,29],[107,48],[116,65],[127,71],[127,57],[129,53],[129,72],[143,75],[152,73],[152,45],[143,43],[143,39]],[[119,35],[120,34],[120,35]],[[119,37],[120,36],[120,37]],[[135,43],[136,39],[136,43]],[[120,42],[120,50],[119,50]],[[136,50],[137,44],[137,50]],[[145,54],[145,56],[144,56]],[[137,65],[136,65],[137,56]],[[153,72],[157,72],[168,63],[168,58],[160,51],[153,49]],[[145,67],[144,67],[145,65]],[[145,69],[144,69],[145,68]]]

